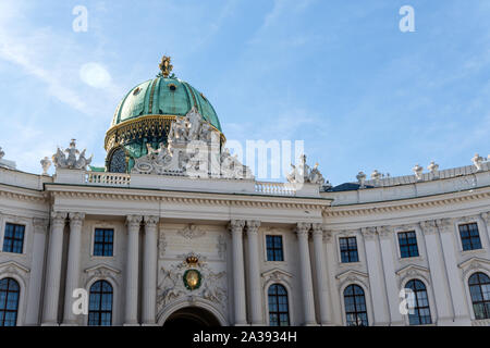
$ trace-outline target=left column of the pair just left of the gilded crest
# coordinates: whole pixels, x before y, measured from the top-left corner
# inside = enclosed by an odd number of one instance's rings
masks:
[[[126,216],[127,257],[126,257],[126,298],[124,325],[138,325],[138,241],[143,216]]]

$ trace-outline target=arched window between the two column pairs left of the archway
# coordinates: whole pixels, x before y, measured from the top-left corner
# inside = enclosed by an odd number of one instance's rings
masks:
[[[110,326],[112,324],[112,286],[98,281],[90,286],[88,302],[88,325]]]

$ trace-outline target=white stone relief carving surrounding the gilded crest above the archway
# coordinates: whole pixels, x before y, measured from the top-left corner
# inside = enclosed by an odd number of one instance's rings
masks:
[[[189,258],[192,260],[204,259],[194,252],[186,256],[186,260]],[[184,273],[189,269],[199,271],[201,275],[201,286],[195,290],[189,290],[184,285]],[[204,261],[195,261],[191,265],[187,261],[183,261],[168,268],[161,268],[157,290],[158,307],[161,309],[182,297],[200,297],[225,308],[228,298],[225,275],[224,271],[215,272]]]

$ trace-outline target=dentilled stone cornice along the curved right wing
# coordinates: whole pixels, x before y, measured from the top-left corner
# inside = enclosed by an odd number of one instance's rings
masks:
[[[372,215],[382,213],[392,213],[406,210],[427,209],[436,207],[444,207],[448,204],[464,203],[474,200],[489,199],[490,190],[473,192],[456,192],[442,196],[429,196],[422,198],[408,198],[396,201],[377,201],[356,203],[350,206],[332,206],[323,208],[323,216],[326,217],[344,217],[358,215]]]

